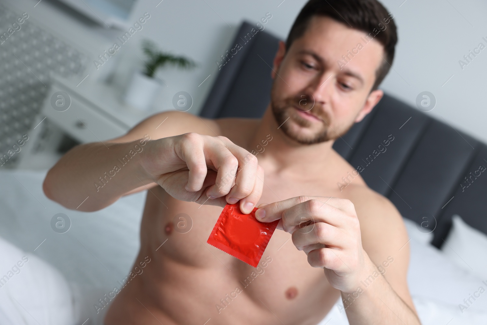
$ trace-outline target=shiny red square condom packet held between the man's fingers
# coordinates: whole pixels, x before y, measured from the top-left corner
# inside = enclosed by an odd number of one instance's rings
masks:
[[[225,206],[206,242],[256,268],[279,220],[260,222],[257,208],[244,214],[239,205]]]

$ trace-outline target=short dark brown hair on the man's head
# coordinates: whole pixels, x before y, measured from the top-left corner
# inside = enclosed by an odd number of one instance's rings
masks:
[[[313,16],[334,19],[369,34],[382,44],[385,57],[375,72],[375,83],[372,87],[372,90],[377,89],[393,64],[397,43],[397,29],[393,16],[389,16],[387,9],[377,0],[309,0],[289,31],[286,52],[292,42],[304,34]]]

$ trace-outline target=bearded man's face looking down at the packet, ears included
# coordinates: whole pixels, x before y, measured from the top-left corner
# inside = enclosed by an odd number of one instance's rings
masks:
[[[348,51],[358,53],[352,57]],[[370,92],[383,52],[382,45],[366,39],[364,32],[313,17],[287,53],[280,44],[274,60],[277,75],[273,74],[270,105],[282,131],[301,144],[345,134],[383,95],[380,90]],[[342,56],[350,57],[348,63]]]

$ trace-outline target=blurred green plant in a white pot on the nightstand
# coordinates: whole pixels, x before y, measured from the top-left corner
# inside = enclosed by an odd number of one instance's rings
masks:
[[[164,66],[175,66],[181,69],[190,69],[196,63],[184,56],[176,56],[169,52],[157,49],[150,40],[142,42],[142,50],[147,57],[143,71],[136,71],[131,79],[124,100],[127,104],[140,110],[148,110],[152,104],[157,90],[161,86],[156,70]]]

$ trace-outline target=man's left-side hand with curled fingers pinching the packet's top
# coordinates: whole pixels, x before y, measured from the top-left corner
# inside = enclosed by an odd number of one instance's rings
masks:
[[[225,136],[186,133],[148,142],[141,166],[172,197],[224,207],[240,200],[250,213],[262,195],[264,172],[255,155]]]

